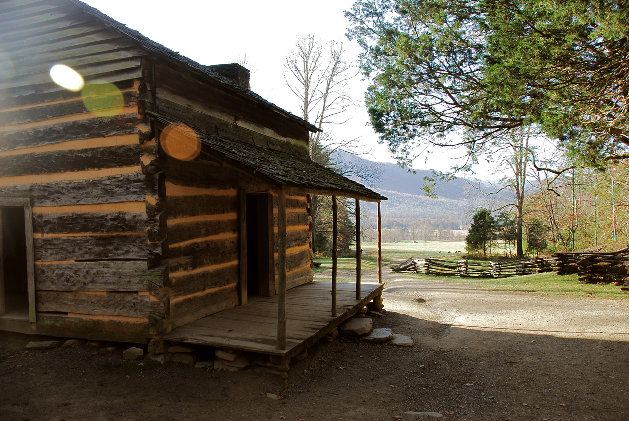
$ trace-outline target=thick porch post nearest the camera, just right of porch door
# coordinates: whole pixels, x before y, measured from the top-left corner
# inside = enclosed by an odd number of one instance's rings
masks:
[[[277,349],[286,349],[286,192],[277,192]]]

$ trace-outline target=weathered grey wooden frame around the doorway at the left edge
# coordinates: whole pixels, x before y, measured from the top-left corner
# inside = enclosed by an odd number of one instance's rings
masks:
[[[33,248],[33,206],[28,197],[14,199],[0,198],[0,263],[2,260],[2,208],[21,207],[24,209],[24,234],[26,240],[26,290],[28,294],[28,319],[36,322],[35,312],[35,254]],[[4,294],[4,270],[0,270],[0,315],[4,314],[6,299]]]

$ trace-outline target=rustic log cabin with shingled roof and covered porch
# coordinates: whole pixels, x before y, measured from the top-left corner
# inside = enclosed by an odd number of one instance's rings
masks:
[[[297,352],[286,297],[313,284],[309,195],[386,198],[312,162],[318,128],[240,65],[200,65],[75,0],[3,0],[0,21],[0,330],[248,349],[238,329],[176,332],[269,298],[277,336],[253,342]],[[382,292],[357,278],[339,314],[332,282],[308,341]]]

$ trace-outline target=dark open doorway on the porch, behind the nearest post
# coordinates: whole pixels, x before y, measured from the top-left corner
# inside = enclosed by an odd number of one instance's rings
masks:
[[[247,295],[274,295],[272,197],[247,194]]]

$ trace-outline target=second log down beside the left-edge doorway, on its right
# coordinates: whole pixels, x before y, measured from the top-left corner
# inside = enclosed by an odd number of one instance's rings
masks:
[[[35,261],[145,260],[162,254],[160,243],[149,243],[146,234],[35,238]]]

